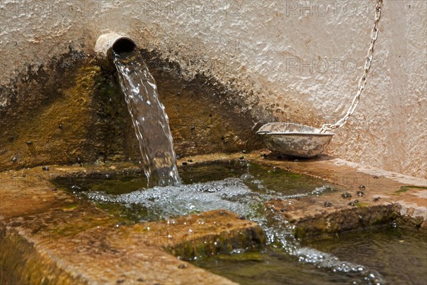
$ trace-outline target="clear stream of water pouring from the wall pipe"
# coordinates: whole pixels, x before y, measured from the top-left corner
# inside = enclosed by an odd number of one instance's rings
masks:
[[[144,160],[147,186],[180,185],[169,119],[152,74],[137,51],[115,53],[114,63]]]

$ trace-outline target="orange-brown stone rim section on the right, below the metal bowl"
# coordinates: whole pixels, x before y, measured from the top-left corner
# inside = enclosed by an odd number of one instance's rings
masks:
[[[295,157],[278,158],[270,154],[263,159],[255,157],[255,160],[319,177],[331,187],[345,188],[323,195],[266,203],[274,212],[295,224],[297,237],[318,237],[387,224],[396,219],[403,223],[410,220],[408,224],[413,227],[426,227],[425,179],[364,167],[327,155],[295,160]]]

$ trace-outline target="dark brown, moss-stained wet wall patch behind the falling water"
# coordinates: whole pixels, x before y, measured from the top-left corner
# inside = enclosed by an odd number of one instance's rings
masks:
[[[245,103],[235,92],[204,75],[187,81],[176,63],[157,53],[142,55],[157,78],[177,154],[261,147],[253,131],[258,120],[243,110]],[[49,66],[47,72],[34,71],[28,81],[0,87],[10,99],[8,108],[0,108],[0,170],[141,160],[115,73],[76,51]]]

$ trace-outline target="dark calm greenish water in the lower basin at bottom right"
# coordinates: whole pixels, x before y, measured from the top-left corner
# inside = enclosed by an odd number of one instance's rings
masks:
[[[426,284],[427,237],[415,229],[371,228],[321,241],[308,240],[305,245],[368,266],[384,276],[387,284]],[[316,268],[271,248],[221,254],[194,264],[239,284],[369,284],[357,274]]]

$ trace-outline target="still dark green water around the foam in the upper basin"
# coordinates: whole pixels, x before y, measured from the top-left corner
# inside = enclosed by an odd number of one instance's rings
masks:
[[[233,177],[238,178],[246,187],[260,195],[275,193],[275,195],[283,197],[305,195],[316,187],[325,185],[325,181],[317,178],[297,175],[278,167],[257,165],[246,160],[186,165],[179,168],[179,173],[185,185]],[[142,171],[112,173],[110,175],[97,174],[88,177],[59,177],[53,182],[59,189],[73,192],[82,199],[88,199],[88,193],[101,193],[102,195],[110,195],[109,197],[116,197],[137,190],[144,191],[144,187],[147,185],[147,179]],[[141,219],[157,219],[157,216],[153,215],[152,211],[142,204],[106,202],[102,199],[94,202],[98,207],[106,209],[115,217],[127,219],[127,222],[138,222]],[[254,210],[253,212],[256,212],[262,206],[262,201],[248,205]],[[186,212],[186,214],[196,214],[200,211],[201,209],[194,208],[190,212]]]

